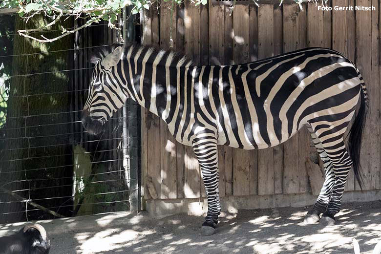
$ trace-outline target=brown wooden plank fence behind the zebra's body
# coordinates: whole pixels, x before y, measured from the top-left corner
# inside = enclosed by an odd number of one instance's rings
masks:
[[[253,62],[312,46],[333,48],[348,56],[360,69],[370,94],[361,150],[364,189],[379,190],[379,0],[333,0],[326,4],[373,5],[376,11],[321,11],[313,2],[303,3],[303,10],[297,4],[279,6],[264,0],[259,4],[236,4],[232,13],[229,5],[211,0],[206,6],[186,1],[174,8],[162,1],[142,15],[142,42],[172,45],[199,64]],[[306,129],[275,148],[220,147],[220,196],[311,193],[307,157],[319,163]],[[144,109],[142,180],[146,200],[205,196],[192,148],[176,143],[164,121]],[[358,190],[351,172],[346,191]]]

